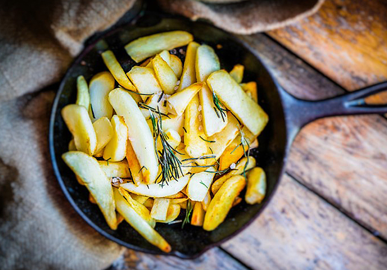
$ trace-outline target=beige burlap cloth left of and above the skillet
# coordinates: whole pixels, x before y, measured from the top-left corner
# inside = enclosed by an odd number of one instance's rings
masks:
[[[160,1],[165,10],[191,18],[211,17],[218,26],[224,16],[230,16],[224,12],[227,9],[216,5],[191,0]],[[122,248],[89,227],[64,197],[50,164],[48,122],[57,87],[53,83],[60,80],[84,40],[112,25],[132,7],[134,0],[3,2],[0,8],[0,268],[106,268]],[[259,6],[268,2],[255,3]],[[308,3],[314,3],[313,9],[317,2]],[[245,5],[252,4],[241,2],[240,7],[246,8]],[[271,14],[278,23],[276,7],[272,5]],[[217,10],[218,16],[214,16]],[[249,19],[256,22],[250,22],[250,26],[256,27],[241,26],[246,21],[238,19],[239,16],[238,13],[228,17],[224,27],[236,31],[230,28],[234,25],[240,27],[240,32],[250,32],[262,29],[259,25],[265,24],[252,16]]]

